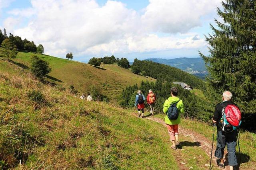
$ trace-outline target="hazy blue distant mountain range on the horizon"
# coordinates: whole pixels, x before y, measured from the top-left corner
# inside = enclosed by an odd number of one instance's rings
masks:
[[[146,60],[173,66],[192,74],[207,73],[205,63],[202,58],[183,57],[183,58],[177,58],[177,59],[146,59]]]

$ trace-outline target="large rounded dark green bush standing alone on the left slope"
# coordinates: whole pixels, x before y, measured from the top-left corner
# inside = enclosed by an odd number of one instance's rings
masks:
[[[50,71],[52,70],[49,67],[49,63],[47,61],[43,61],[36,55],[32,55],[31,63],[31,72],[40,80],[42,80],[46,76],[46,74],[50,73]]]

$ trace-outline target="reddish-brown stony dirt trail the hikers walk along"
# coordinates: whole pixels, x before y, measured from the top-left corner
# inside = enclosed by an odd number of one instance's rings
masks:
[[[162,124],[164,127],[166,127],[166,123],[160,118],[150,116],[150,117],[146,117],[145,119],[149,119],[151,121],[158,122],[158,123]],[[194,141],[194,142],[199,142],[200,143],[199,147],[201,147],[206,152],[206,154],[209,156],[209,160],[210,160],[211,149],[212,149],[212,141],[209,141],[206,137],[192,131],[191,129],[184,129],[180,126],[179,126],[179,133],[180,133],[180,135],[183,135],[185,137],[190,137],[192,139],[192,141]],[[217,167],[216,157],[214,156],[214,150],[215,150],[215,147],[212,151],[213,152],[212,153],[212,165],[214,165],[214,167]],[[226,155],[226,153],[224,153],[224,155]],[[177,159],[180,160],[180,158],[179,158],[180,156],[178,154],[176,156],[178,156]],[[179,164],[180,164],[180,162],[179,162]],[[180,169],[181,170],[187,170],[188,168],[186,166],[180,164]],[[209,166],[206,166],[205,169],[209,169]],[[229,170],[229,167],[225,166],[225,168],[220,168],[220,169],[221,170]]]

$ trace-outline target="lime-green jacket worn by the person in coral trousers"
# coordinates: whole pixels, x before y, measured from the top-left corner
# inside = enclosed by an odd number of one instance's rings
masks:
[[[178,100],[180,100],[180,98],[172,97],[172,96],[171,96],[170,98],[168,98],[168,99],[164,102],[164,109],[163,109],[164,113],[167,113],[167,111],[168,111],[170,105],[171,105],[171,104],[174,104],[174,103],[176,103],[176,102],[178,102]],[[184,106],[183,106],[182,100],[180,100],[176,106],[177,106],[178,111],[179,111],[179,117],[178,117],[178,119],[176,119],[176,120],[170,120],[170,119],[167,117],[167,115],[166,115],[166,116],[165,116],[165,123],[168,124],[168,125],[177,125],[177,124],[180,123],[180,114],[181,114],[181,113],[184,113]]]

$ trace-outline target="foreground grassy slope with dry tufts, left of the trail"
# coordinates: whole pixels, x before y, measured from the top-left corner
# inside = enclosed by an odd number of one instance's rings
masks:
[[[130,112],[0,72],[0,169],[177,170],[162,125]]]

